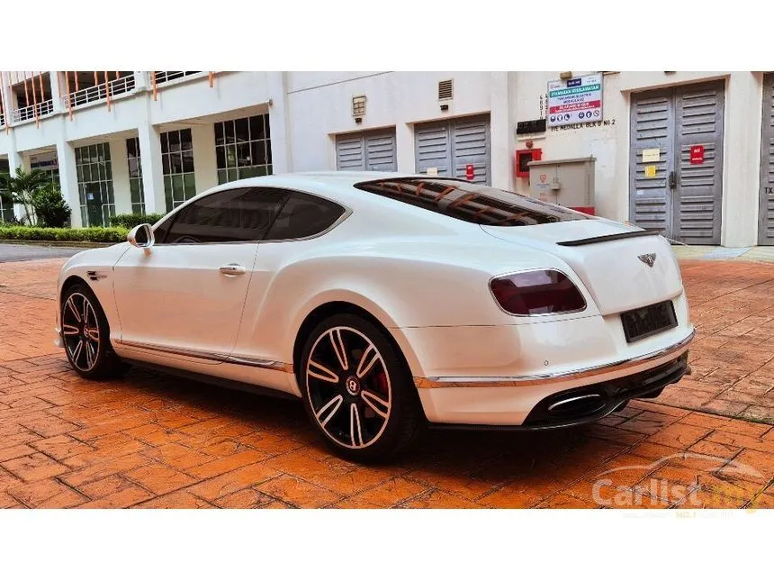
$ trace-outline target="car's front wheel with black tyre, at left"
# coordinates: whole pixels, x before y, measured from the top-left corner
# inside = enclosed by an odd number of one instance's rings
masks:
[[[85,284],[70,286],[62,299],[62,339],[76,373],[86,379],[123,375],[129,366],[112,350],[110,326],[92,289]]]

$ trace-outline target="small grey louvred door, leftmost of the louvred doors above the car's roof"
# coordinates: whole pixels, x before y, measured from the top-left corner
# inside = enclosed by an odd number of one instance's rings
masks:
[[[397,171],[395,130],[338,135],[336,168],[349,171]]]

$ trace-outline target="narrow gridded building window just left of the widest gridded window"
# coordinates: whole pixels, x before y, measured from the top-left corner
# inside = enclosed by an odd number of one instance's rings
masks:
[[[161,134],[161,166],[164,170],[166,211],[169,212],[196,195],[190,129]]]

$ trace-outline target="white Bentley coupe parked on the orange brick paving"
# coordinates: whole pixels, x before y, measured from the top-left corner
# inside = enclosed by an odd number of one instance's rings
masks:
[[[593,422],[689,373],[693,336],[657,232],[446,177],[232,182],[58,278],[81,376],[268,388],[360,461],[428,424]]]

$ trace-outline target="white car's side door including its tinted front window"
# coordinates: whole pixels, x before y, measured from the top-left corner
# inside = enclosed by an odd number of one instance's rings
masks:
[[[162,222],[149,250],[130,248],[114,269],[121,343],[217,364],[237,339],[258,241],[282,192],[221,190]]]

